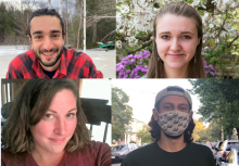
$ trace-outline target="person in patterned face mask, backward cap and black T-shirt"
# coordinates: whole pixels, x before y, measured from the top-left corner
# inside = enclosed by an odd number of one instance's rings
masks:
[[[177,86],[161,90],[149,123],[154,142],[127,154],[122,166],[215,166],[212,151],[192,143],[192,115],[187,91]]]

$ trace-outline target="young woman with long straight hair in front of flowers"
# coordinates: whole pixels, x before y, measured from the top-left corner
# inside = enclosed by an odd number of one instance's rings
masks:
[[[189,4],[172,2],[156,13],[147,78],[205,78],[202,20]]]

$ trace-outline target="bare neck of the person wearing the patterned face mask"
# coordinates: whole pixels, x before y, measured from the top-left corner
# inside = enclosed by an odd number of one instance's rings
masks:
[[[181,151],[186,146],[186,142],[184,142],[184,133],[178,139],[167,138],[164,132],[161,130],[161,138],[158,141],[158,145],[166,151],[166,152],[178,152]]]

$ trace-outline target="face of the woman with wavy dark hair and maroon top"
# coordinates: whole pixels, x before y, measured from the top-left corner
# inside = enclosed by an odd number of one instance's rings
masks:
[[[76,98],[68,89],[59,91],[45,116],[30,127],[35,152],[59,154],[72,138],[77,124]]]

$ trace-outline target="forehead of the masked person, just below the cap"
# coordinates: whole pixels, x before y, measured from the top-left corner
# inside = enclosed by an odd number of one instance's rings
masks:
[[[173,103],[173,104],[187,104],[187,105],[189,105],[188,100],[184,97],[180,97],[180,95],[166,95],[161,100],[160,103],[161,104]]]

